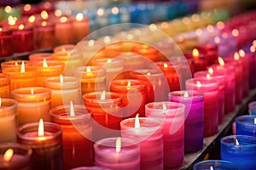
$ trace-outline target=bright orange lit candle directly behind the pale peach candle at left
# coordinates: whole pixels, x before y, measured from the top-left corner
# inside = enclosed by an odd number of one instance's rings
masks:
[[[16,88],[35,87],[37,84],[37,72],[32,67],[25,67],[24,62],[21,67],[3,70],[3,74],[10,77],[10,92]]]

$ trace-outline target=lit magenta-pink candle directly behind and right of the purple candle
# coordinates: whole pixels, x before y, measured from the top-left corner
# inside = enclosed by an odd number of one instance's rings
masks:
[[[204,94],[204,137],[218,133],[218,85],[216,80],[191,78],[186,81],[187,90]]]

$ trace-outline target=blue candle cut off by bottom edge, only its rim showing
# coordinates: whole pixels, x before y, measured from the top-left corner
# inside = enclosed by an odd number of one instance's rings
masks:
[[[221,160],[208,160],[197,162],[194,167],[194,170],[216,170],[216,169],[225,169],[225,170],[238,170],[239,167],[236,164],[230,161],[221,161]]]

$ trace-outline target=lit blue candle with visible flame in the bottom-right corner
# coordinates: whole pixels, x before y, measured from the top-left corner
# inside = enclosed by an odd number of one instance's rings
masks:
[[[231,135],[220,139],[220,156],[224,161],[235,163],[240,169],[255,169],[256,138]]]

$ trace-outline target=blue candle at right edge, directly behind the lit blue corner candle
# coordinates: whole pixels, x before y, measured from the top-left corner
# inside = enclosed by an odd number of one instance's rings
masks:
[[[256,115],[236,117],[236,134],[256,137]]]

